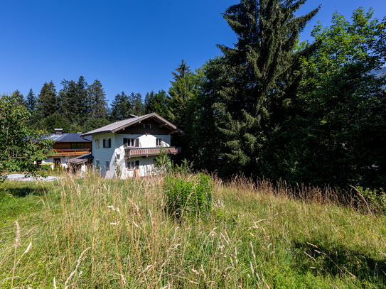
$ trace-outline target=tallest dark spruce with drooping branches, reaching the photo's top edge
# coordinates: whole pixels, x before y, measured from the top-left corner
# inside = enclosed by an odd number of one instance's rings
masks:
[[[305,1],[242,0],[223,13],[238,41],[235,48],[218,45],[222,61],[213,62],[208,73],[218,75],[210,109],[216,114],[227,174],[256,171],[269,132],[290,111],[300,80],[294,71],[311,50],[295,52],[299,33],[320,9],[296,17]]]

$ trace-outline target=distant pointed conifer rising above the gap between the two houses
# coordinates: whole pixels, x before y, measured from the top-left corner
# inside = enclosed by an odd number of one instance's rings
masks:
[[[92,119],[102,119],[107,117],[106,94],[100,80],[94,82],[88,87],[90,99],[90,114]]]

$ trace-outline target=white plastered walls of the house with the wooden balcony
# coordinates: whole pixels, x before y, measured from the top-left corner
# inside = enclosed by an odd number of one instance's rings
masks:
[[[154,136],[149,133],[100,133],[93,135],[92,156],[94,159],[92,160],[92,164],[107,178],[113,178],[116,171],[119,171],[121,178],[131,178],[135,175],[139,177],[151,175],[154,170],[153,164],[156,156],[148,156],[146,158],[139,156],[125,160],[124,138],[134,138],[139,140],[139,146],[133,146],[132,148],[159,148],[156,143],[157,138],[161,138],[161,146],[170,146],[170,135],[168,134]],[[104,139],[110,139],[110,141],[103,141]],[[97,142],[99,142],[99,148],[97,148]],[[103,145],[107,142],[110,142],[111,146],[109,148],[104,148]],[[117,160],[117,163],[115,163],[115,160]],[[129,165],[127,162],[129,162]],[[131,165],[132,162],[134,162],[134,166]],[[135,164],[138,162],[139,166],[136,168]]]

